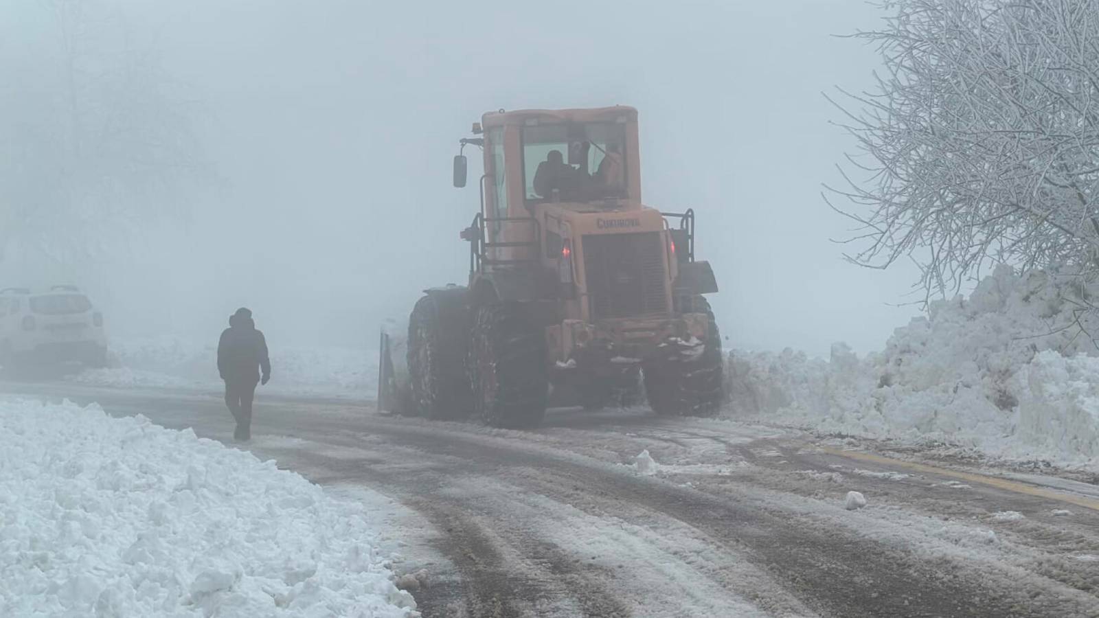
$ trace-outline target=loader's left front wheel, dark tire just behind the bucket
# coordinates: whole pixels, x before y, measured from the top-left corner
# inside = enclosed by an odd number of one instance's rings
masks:
[[[459,300],[440,295],[421,298],[412,309],[408,339],[411,405],[401,406],[409,413],[435,420],[469,413],[469,382],[463,365],[468,336],[466,313]]]

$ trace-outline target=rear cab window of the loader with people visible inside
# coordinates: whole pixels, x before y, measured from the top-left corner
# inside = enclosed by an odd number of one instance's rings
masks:
[[[523,126],[528,203],[626,197],[625,123]]]

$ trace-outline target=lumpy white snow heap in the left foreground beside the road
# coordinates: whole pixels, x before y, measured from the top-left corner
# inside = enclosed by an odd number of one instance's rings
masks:
[[[0,616],[417,616],[365,515],[190,430],[0,402]]]

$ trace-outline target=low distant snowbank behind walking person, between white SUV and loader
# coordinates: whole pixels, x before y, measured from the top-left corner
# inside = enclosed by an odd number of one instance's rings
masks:
[[[174,336],[111,342],[114,364],[89,369],[74,380],[95,386],[219,388],[218,342]],[[282,394],[374,397],[378,357],[375,350],[286,347],[270,344],[271,382]]]

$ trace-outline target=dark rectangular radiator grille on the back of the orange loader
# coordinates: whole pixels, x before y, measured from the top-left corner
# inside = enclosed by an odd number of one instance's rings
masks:
[[[668,312],[659,232],[585,235],[584,268],[593,319]]]

